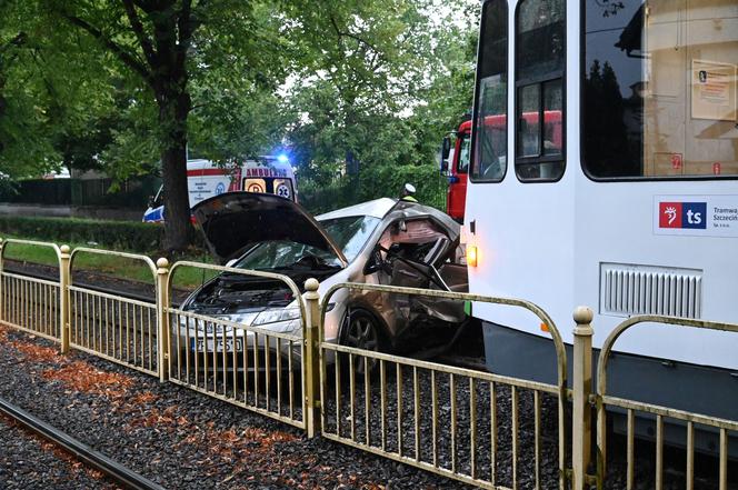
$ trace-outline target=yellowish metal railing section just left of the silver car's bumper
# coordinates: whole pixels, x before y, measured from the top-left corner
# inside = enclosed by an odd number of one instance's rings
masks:
[[[62,276],[70,279],[62,301],[68,304],[69,346],[148,374],[159,373],[157,304],[133,300],[111,292],[76,286],[74,261],[80,254],[116,257],[141,262],[157,278],[153,261],[136,253],[80,247],[62,262]],[[67,270],[64,270],[67,269]]]

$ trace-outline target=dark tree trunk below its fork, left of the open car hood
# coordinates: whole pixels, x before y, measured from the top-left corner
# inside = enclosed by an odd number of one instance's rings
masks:
[[[161,152],[166,213],[164,247],[168,251],[182,251],[189,246],[191,237],[187,188],[187,118],[190,112],[190,98],[186,91],[182,91],[160,98],[159,101],[159,123],[161,128],[170,128]]]

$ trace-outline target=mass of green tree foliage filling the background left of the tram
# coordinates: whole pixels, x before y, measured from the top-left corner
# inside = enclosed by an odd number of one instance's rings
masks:
[[[437,151],[471,107],[479,7],[0,2],[0,172],[63,163],[122,182],[158,173],[183,131],[190,156],[220,161],[288,146],[315,209],[393,197],[405,182],[443,208]],[[164,103],[177,94],[184,118]],[[358,174],[340,177],[349,161]]]

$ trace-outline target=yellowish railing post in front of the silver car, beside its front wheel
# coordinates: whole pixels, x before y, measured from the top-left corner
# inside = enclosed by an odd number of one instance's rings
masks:
[[[318,280],[308,279],[305,282],[308,318],[305,322],[305,352],[302,376],[306,379],[305,393],[305,422],[308,437],[313,438],[320,433],[320,294]]]

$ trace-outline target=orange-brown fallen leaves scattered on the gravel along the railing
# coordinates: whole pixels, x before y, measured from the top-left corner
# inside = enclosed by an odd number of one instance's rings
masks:
[[[103,417],[102,411],[110,410],[118,420],[123,418],[117,429],[123,439],[149,441],[156,433],[153,438],[170,441],[169,448],[181,454],[182,461],[196,468],[198,474],[217,476],[218,481],[229,488],[252,488],[253,482],[259,482],[297,489],[385,490],[372,482],[371,474],[341,471],[339,461],[327,461],[320,453],[312,452],[308,449],[309,441],[293,430],[217,423],[215,412],[203,418],[187,404],[180,407],[164,400],[154,387],[139,388],[133,377],[98,369],[74,356],[61,356],[53,346],[38,346],[26,340],[28,337],[16,340],[7,327],[0,326],[0,340],[6,339],[13,340],[6,346],[17,350],[18,359],[27,362],[26,369],[38,370],[43,380],[62,383],[72,399],[76,392],[100,397],[99,401],[86,402],[92,410],[89,423],[100,423],[102,418],[107,424],[107,414]],[[113,428],[110,430],[110,436],[114,437]],[[138,450],[138,443],[136,448]],[[142,442],[140,450],[148,449]],[[152,453],[149,459],[150,464],[160,461],[159,453]],[[219,473],[223,468],[227,472]]]

